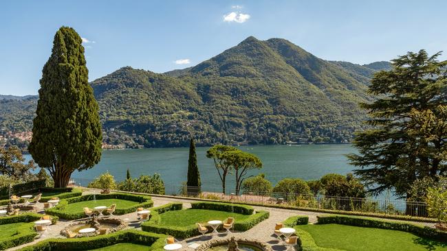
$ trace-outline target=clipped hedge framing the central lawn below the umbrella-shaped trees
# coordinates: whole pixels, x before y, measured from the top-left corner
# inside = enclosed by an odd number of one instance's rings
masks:
[[[201,203],[199,203],[199,204],[201,204]],[[226,205],[222,206],[223,203],[217,203],[217,205],[215,205],[215,206],[211,206],[209,204],[211,204],[211,203],[206,202],[206,205],[202,205],[202,206],[206,206],[206,208],[200,208],[200,207],[197,208],[194,206],[193,206],[193,208],[216,210],[216,211],[218,211],[218,210],[211,209],[211,208],[223,208],[226,210],[221,210],[221,211],[226,211],[226,212],[228,210],[228,207]],[[181,210],[181,209],[182,209],[182,204],[180,204],[180,203],[171,203],[171,204],[166,204],[164,206],[159,206],[157,208],[151,208],[152,217],[151,217],[151,219],[149,219],[149,221],[144,222],[141,225],[142,230],[147,231],[147,232],[157,232],[157,233],[161,233],[161,234],[165,234],[165,235],[172,235],[172,236],[175,236],[177,238],[182,238],[182,239],[200,235],[199,230],[197,230],[197,226],[195,226],[195,225],[182,226],[182,227],[160,225],[160,214],[161,213],[165,213],[166,211]],[[250,208],[245,208],[243,210],[246,210],[246,212],[248,212],[247,210],[250,210]],[[235,213],[239,213],[239,212],[235,211]],[[244,220],[235,222],[234,230],[246,231],[246,230],[252,228],[253,226],[255,226],[256,224],[259,224],[259,222],[262,222],[264,219],[267,219],[269,217],[269,215],[270,215],[270,213],[267,211],[258,211],[254,215],[251,215],[248,219],[244,219]]]

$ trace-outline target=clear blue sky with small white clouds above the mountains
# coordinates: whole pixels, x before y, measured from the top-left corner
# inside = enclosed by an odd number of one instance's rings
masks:
[[[435,53],[447,50],[445,10],[447,1],[6,0],[0,94],[37,93],[62,25],[88,40],[95,80],[124,66],[159,73],[190,67],[248,36],[286,38],[320,58],[360,64],[419,49]]]

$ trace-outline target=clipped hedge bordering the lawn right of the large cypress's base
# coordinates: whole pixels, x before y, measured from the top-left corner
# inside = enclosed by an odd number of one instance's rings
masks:
[[[47,209],[47,211],[45,211],[45,213],[47,213],[48,215],[56,215],[62,219],[81,219],[81,218],[85,217],[85,213],[82,211],[82,208],[80,208],[79,212],[67,213],[65,211],[65,207],[71,203],[93,200],[94,198],[96,198],[96,200],[120,199],[120,200],[130,200],[133,202],[139,202],[139,204],[136,204],[134,206],[128,206],[127,208],[119,208],[119,206],[118,206],[115,210],[115,213],[113,213],[116,215],[124,215],[127,213],[133,213],[139,207],[149,208],[149,207],[153,206],[153,201],[151,200],[151,197],[149,197],[149,196],[133,195],[133,194],[129,194],[129,193],[106,193],[106,194],[96,194],[96,195],[83,195],[83,196],[78,196],[78,197],[74,197],[74,198],[68,198],[65,200],[61,200],[57,206],[55,206],[54,208]]]

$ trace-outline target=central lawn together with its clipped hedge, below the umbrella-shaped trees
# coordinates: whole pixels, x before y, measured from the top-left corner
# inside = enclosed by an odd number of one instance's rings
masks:
[[[233,230],[246,231],[269,217],[268,212],[254,213],[251,206],[245,205],[195,202],[191,206],[182,210],[182,204],[171,203],[152,208],[152,218],[142,224],[142,230],[188,238],[199,235],[196,223],[206,226],[213,219],[223,221],[227,217],[234,217]]]

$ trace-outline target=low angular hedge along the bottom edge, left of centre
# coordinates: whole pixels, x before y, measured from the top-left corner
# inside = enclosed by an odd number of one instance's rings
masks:
[[[151,250],[161,251],[166,235],[139,230],[122,230],[109,235],[83,237],[73,239],[46,239],[33,246],[23,248],[24,251],[50,251],[50,250],[92,250],[104,248],[117,243],[135,243],[151,245]]]

